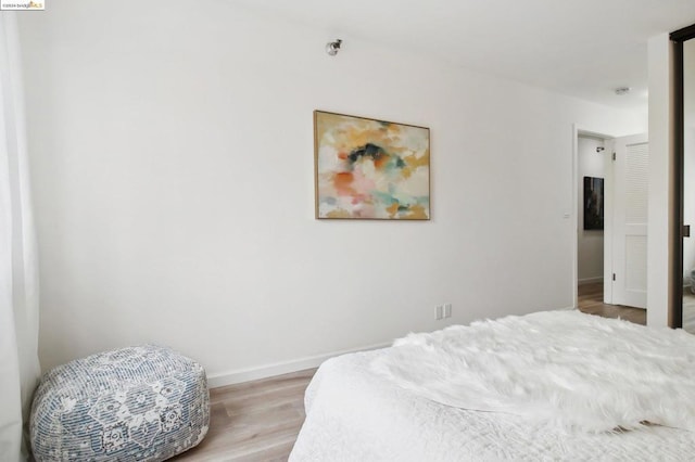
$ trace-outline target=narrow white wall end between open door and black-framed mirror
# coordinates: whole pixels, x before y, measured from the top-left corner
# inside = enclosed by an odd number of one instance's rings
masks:
[[[647,324],[670,322],[673,210],[673,50],[668,34],[649,39],[649,223]]]

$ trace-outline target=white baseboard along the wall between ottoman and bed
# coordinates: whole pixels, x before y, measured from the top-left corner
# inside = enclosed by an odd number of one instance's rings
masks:
[[[367,351],[370,349],[386,348],[391,343],[370,345],[362,348],[352,348],[342,351],[333,351],[325,355],[309,356],[305,358],[292,359],[290,361],[275,362],[256,368],[239,369],[236,371],[211,374],[207,376],[207,386],[217,388],[226,385],[233,385],[243,382],[257,381],[260,378],[271,377],[274,375],[289,374],[290,372],[303,371],[305,369],[318,368],[321,362],[336,356],[349,352]]]

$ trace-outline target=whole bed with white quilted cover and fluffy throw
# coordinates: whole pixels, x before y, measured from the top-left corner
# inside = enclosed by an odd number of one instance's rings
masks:
[[[473,376],[473,363],[497,372]],[[578,311],[481,321],[330,359],[305,409],[294,462],[692,461],[695,337]]]

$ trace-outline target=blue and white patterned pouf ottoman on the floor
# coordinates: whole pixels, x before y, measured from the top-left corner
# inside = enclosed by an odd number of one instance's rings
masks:
[[[153,345],[93,355],[46,373],[29,432],[41,461],[163,461],[207,433],[203,368]]]

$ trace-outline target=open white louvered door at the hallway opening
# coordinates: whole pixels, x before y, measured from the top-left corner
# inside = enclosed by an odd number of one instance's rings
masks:
[[[615,139],[612,194],[612,303],[647,307],[646,134]]]

